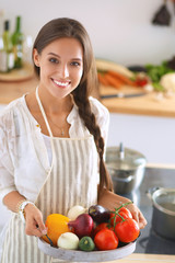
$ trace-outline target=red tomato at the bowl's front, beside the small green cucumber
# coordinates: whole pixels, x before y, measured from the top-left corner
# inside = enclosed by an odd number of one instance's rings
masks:
[[[102,229],[95,235],[94,243],[98,250],[113,250],[118,247],[118,238],[110,229]]]

